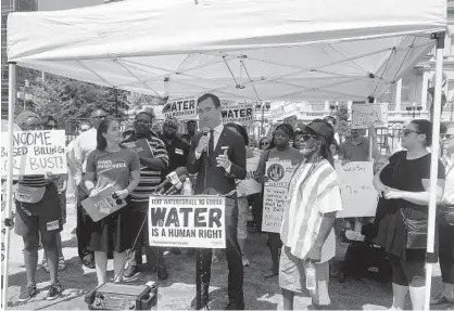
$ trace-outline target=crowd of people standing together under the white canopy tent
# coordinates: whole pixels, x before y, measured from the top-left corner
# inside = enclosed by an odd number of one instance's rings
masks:
[[[241,125],[223,124],[220,101],[214,94],[198,100],[199,122],[187,122],[187,133],[178,134],[178,120],[165,120],[162,132],[152,130],[154,117],[147,112],[135,116],[127,135],[118,120],[102,108],[91,112],[91,127],[80,126],[80,134],[67,148],[70,179],[76,185],[77,244],[81,264],[96,269],[98,284],[108,282],[108,259],[114,259],[114,282],[123,282],[141,273],[142,249],[147,263],[160,280],[168,277],[163,248],[149,246],[149,196],[166,176],[178,167],[187,167],[193,181],[194,194],[226,195],[226,259],[228,262],[227,310],[242,310],[244,306],[243,269],[250,265],[244,247],[248,219],[252,212],[253,230],[262,233],[264,184],[268,181],[266,163],[290,161],[295,170],[288,189],[288,197],[280,233],[267,233],[272,269],[264,277],[278,277],[282,288],[283,309],[293,309],[295,293],[306,288],[307,273],[315,269],[315,287],[311,288],[312,303],[323,308],[331,303],[328,294],[336,255],[336,215],[342,210],[340,185],[335,161],[375,160],[374,185],[379,193],[374,221],[373,241],[387,252],[392,267],[393,309],[404,309],[409,290],[413,308],[423,309],[425,300],[425,262],[428,203],[430,191],[438,196],[439,213],[436,249],[440,258],[443,291],[433,303],[454,303],[454,125],[442,133],[442,158],[439,164],[438,186],[430,189],[430,152],[432,125],[428,120],[413,120],[403,131],[402,147],[393,155],[381,155],[377,134],[370,128],[368,138],[362,130],[352,130],[341,144],[336,133],[336,119],[315,119],[293,129],[278,125],[272,135],[262,138],[255,180],[262,184],[258,193],[237,193],[239,180],[247,174],[247,159],[254,156],[254,143]],[[21,113],[16,124],[24,131],[58,129],[52,117],[40,117],[31,112]],[[206,130],[205,130],[206,129]],[[125,144],[147,140],[152,156],[139,156]],[[67,176],[24,176],[16,182],[16,192],[31,193],[21,200],[16,195],[15,232],[23,236],[27,284],[18,300],[36,296],[35,273],[39,244],[45,249],[42,267],[49,271],[51,285],[47,299],[58,298],[63,287],[59,272],[65,269],[60,231],[65,224]],[[116,189],[116,196],[127,206],[99,222],[93,222],[81,206],[87,197],[106,186]],[[370,220],[351,219],[350,236],[364,241],[362,225]],[[336,231],[339,234],[338,231]],[[346,234],[341,232],[340,234]],[[129,258],[127,257],[127,250]],[[176,255],[181,249],[173,248]],[[196,258],[200,275],[202,308],[210,302],[211,265],[217,260],[211,249],[186,250]],[[125,269],[126,267],[126,269]],[[307,276],[307,277],[306,277]],[[198,282],[199,283],[199,282]]]

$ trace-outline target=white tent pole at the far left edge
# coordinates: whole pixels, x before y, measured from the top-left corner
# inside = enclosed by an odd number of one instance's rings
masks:
[[[7,178],[7,210],[4,223],[4,259],[3,259],[3,273],[2,273],[2,290],[1,290],[1,301],[2,310],[5,310],[8,307],[8,277],[9,271],[8,265],[10,263],[10,234],[11,229],[13,228],[12,223],[12,210],[13,210],[13,130],[14,130],[14,106],[16,100],[16,65],[13,63],[9,64],[9,85],[8,85],[8,133],[10,135],[9,148],[8,148],[8,178]],[[3,226],[2,225],[2,226]]]

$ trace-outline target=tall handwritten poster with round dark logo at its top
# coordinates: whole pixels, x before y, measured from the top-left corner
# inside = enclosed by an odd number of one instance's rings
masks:
[[[266,176],[269,181],[265,183],[263,197],[263,231],[280,232],[289,184],[294,169],[291,161],[266,163]]]

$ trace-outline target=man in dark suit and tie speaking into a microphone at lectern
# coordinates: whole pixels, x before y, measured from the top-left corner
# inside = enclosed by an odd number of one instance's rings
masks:
[[[188,171],[198,173],[196,194],[226,195],[226,257],[228,262],[228,297],[226,310],[244,309],[243,267],[237,238],[238,206],[236,179],[245,178],[245,146],[242,137],[223,126],[220,101],[204,94],[198,100],[201,128],[191,142]],[[202,306],[207,307],[212,250],[201,249],[197,269],[201,283]]]

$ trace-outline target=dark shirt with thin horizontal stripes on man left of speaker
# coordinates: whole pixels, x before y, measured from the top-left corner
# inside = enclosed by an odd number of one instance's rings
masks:
[[[143,138],[131,135],[124,143],[135,142]],[[164,142],[155,137],[152,132],[147,138],[147,141],[153,152],[154,158],[160,158],[164,161],[165,167],[168,167],[168,154]],[[161,183],[161,169],[154,169],[150,167],[142,167],[140,169],[139,185],[133,191],[130,196],[134,202],[148,202],[150,195],[153,194],[156,186]]]

